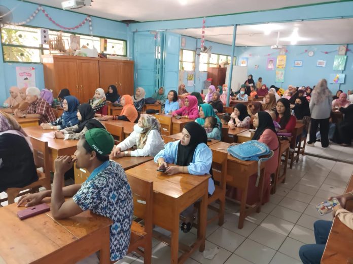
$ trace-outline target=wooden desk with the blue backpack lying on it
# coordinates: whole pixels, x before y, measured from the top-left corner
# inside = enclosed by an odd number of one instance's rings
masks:
[[[229,147],[229,143],[218,142],[209,146],[212,150],[213,155],[217,155],[218,152],[225,153]],[[260,212],[262,205],[262,193],[263,193],[263,179],[265,174],[265,162],[261,162],[260,181],[259,181],[259,197],[258,201],[253,205],[246,204],[246,197],[248,197],[249,178],[253,174],[257,174],[258,162],[257,161],[245,161],[232,157],[228,154],[227,161],[227,184],[241,190],[241,201],[240,201],[240,212],[239,212],[239,223],[238,228],[242,229],[244,225],[244,219],[246,216],[254,211]]]

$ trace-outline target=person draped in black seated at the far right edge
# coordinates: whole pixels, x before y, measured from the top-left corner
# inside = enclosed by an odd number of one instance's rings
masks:
[[[351,146],[353,139],[353,105],[341,107],[339,111],[344,114],[344,119],[336,126],[332,141],[348,147]]]

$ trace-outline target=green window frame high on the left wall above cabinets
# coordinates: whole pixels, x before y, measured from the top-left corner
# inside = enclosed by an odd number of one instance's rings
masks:
[[[11,26],[16,26],[16,25],[11,25]],[[41,29],[40,27],[37,26],[31,26],[31,25],[20,25],[19,27],[29,27],[29,28],[35,28],[35,29]],[[67,33],[67,34],[72,34],[72,35],[80,35],[80,36],[89,36],[91,37],[90,34],[84,34],[84,33],[77,33],[77,32],[72,32],[72,31],[64,31],[64,30],[57,30],[57,29],[49,29],[49,34],[50,31],[54,31],[54,32],[63,32],[63,33]],[[111,39],[111,40],[118,40],[118,41],[122,41],[123,42],[123,51],[124,51],[124,55],[117,55],[117,56],[121,56],[121,57],[127,57],[127,40],[125,39],[120,39],[120,38],[112,38],[112,37],[104,37],[104,36],[100,36],[100,35],[92,35],[93,37],[99,37],[100,39]],[[5,60],[5,56],[4,56],[4,47],[16,47],[16,48],[24,48],[24,49],[37,49],[40,50],[40,55],[44,55],[44,51],[47,50],[49,51],[49,48],[44,48],[42,44],[40,44],[39,47],[31,47],[31,46],[25,46],[25,45],[17,45],[17,44],[7,44],[7,43],[3,43],[3,31],[0,30],[0,38],[1,38],[1,46],[2,46],[2,52],[3,52],[3,63],[20,63],[20,64],[43,64],[42,61],[42,56],[40,56],[40,62],[24,62],[24,61],[7,61]],[[102,51],[98,51],[98,53],[103,53],[104,55],[111,55],[110,53],[104,53]]]

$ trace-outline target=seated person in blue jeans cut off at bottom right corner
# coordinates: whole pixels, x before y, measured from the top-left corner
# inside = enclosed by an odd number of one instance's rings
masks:
[[[344,225],[353,230],[353,212],[344,209],[345,203],[349,200],[353,200],[353,191],[331,197],[329,200],[333,198],[337,198],[340,203],[333,207],[333,215],[337,216]],[[299,256],[304,264],[320,264],[331,227],[332,221],[317,220],[314,223],[316,244],[303,245],[299,249]]]

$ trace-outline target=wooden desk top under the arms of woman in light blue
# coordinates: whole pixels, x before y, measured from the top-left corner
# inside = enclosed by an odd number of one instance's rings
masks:
[[[157,171],[157,163],[153,160],[145,162],[139,166],[126,170],[126,174],[136,178],[153,181],[153,191],[172,198],[179,198],[195,186],[208,181],[210,175],[191,175],[178,173],[167,175]]]

